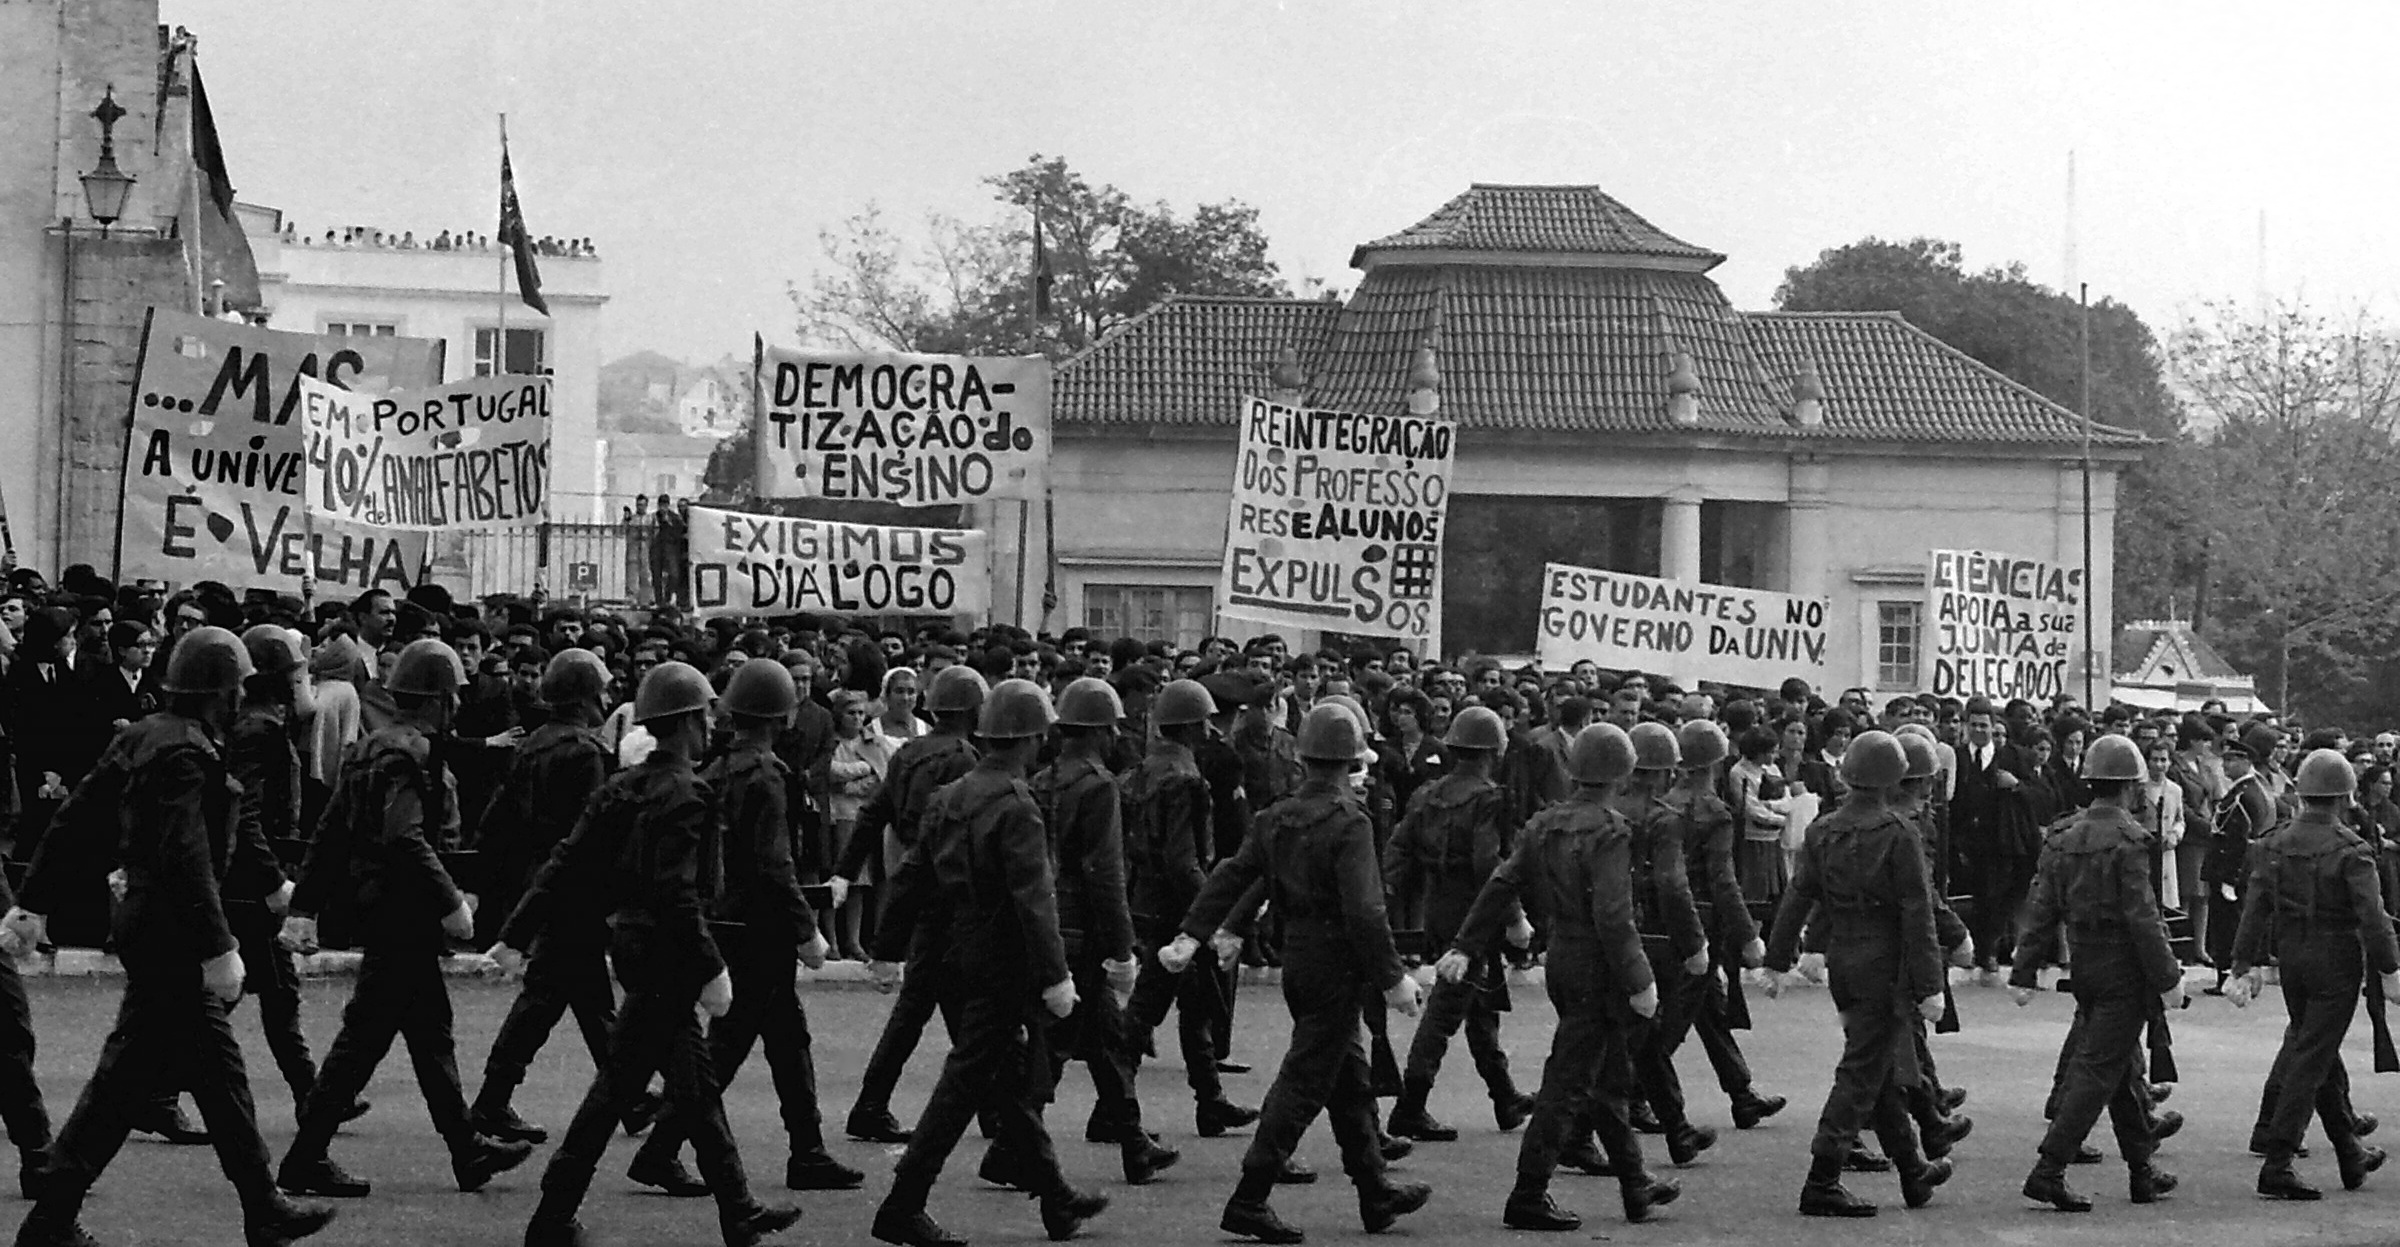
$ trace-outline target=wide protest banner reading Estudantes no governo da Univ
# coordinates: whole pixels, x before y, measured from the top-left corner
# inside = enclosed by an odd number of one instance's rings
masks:
[[[1543,564],[1536,647],[1550,671],[1591,659],[1687,683],[1824,683],[1826,612],[1824,597]]]

